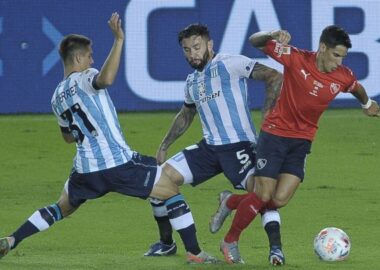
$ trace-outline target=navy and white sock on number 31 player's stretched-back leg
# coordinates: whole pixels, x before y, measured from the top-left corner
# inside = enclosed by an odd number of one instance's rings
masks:
[[[59,221],[62,218],[61,209],[57,204],[52,204],[37,210],[12,234],[15,238],[15,243],[12,246],[12,249],[14,249],[25,238],[35,233],[47,230],[56,221]]]

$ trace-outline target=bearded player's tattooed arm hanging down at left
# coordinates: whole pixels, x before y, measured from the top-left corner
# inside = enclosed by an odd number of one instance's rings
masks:
[[[190,124],[194,120],[196,114],[195,107],[182,106],[181,110],[177,113],[170,127],[168,133],[162,140],[158,150],[157,150],[157,163],[162,164],[166,160],[166,153],[169,146],[177,140],[185,131],[189,128]]]

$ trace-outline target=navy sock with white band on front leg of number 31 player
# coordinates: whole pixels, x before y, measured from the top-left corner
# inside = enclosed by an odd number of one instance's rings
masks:
[[[193,215],[181,194],[165,201],[170,224],[181,236],[185,249],[194,255],[201,252],[199,248]]]

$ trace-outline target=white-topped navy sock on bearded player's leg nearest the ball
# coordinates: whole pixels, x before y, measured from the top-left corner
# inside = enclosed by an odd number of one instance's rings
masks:
[[[277,210],[267,210],[261,217],[263,227],[268,235],[269,246],[281,248],[280,214]]]

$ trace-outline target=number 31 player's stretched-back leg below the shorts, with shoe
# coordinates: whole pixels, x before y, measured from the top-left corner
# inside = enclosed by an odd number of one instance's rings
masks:
[[[0,258],[25,238],[49,229],[76,209],[69,202],[66,184],[57,203],[38,209],[13,234],[0,239]]]

